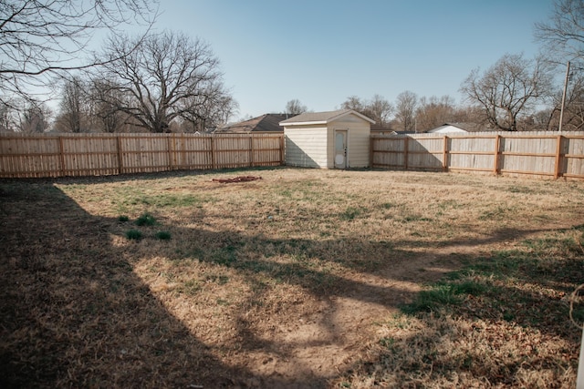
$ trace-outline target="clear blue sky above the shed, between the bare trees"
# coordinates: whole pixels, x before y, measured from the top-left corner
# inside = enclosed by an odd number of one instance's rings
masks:
[[[156,29],[208,42],[236,118],[339,108],[349,96],[449,95],[506,53],[537,54],[552,0],[162,0]]]

